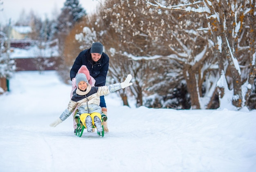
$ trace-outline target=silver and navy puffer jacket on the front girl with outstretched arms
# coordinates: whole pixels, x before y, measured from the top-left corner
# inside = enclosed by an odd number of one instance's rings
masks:
[[[73,96],[67,106],[67,109],[62,112],[60,119],[64,121],[69,117],[78,106],[79,114],[99,112],[101,114],[100,96],[107,95],[111,92],[121,89],[120,83],[109,86],[91,87],[88,85],[85,92],[74,90]]]

